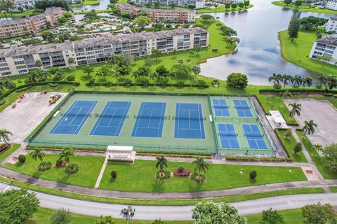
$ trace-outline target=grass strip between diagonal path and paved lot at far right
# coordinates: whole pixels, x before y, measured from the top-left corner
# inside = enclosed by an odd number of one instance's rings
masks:
[[[298,137],[300,137],[300,140],[303,143],[303,146],[307,149],[312,161],[315,163],[317,169],[319,169],[319,172],[322,174],[324,179],[337,179],[337,174],[333,174],[329,172],[328,169],[326,169],[323,165],[323,160],[324,158],[320,157],[315,151],[315,149],[312,148],[312,144],[308,137],[304,136],[303,137],[303,132],[302,131],[297,131],[296,132]]]

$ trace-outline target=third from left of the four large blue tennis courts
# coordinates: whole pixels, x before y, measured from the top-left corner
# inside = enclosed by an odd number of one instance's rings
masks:
[[[161,138],[166,103],[143,102],[140,105],[132,137]]]

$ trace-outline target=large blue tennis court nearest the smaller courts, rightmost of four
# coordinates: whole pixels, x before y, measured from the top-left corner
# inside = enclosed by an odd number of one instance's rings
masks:
[[[205,139],[201,104],[176,104],[174,137],[176,139]]]

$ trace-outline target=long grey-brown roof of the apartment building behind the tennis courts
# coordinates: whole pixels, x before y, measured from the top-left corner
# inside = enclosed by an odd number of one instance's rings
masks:
[[[145,41],[153,38],[166,38],[180,36],[186,34],[207,33],[206,29],[200,27],[187,29],[173,29],[170,31],[143,32],[137,34],[121,34],[117,36],[105,36],[99,38],[84,39],[81,41],[66,41],[65,43],[55,43],[46,45],[12,47],[8,49],[0,49],[0,57],[13,57],[21,55],[39,54],[42,52],[55,52],[59,50],[73,50],[77,48],[93,47],[97,45],[105,45],[111,43],[123,43],[128,41]]]

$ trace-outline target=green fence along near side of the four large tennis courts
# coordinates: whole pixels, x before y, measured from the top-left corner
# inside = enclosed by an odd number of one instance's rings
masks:
[[[114,142],[107,141],[66,141],[66,140],[40,140],[34,139],[29,146],[57,147],[57,148],[97,148],[105,149],[107,146],[113,146]],[[134,149],[142,151],[167,151],[183,153],[216,153],[214,146],[183,146],[168,144],[131,144],[118,141],[118,146],[133,146]]]

